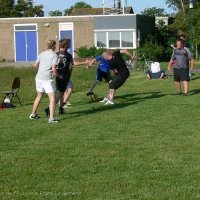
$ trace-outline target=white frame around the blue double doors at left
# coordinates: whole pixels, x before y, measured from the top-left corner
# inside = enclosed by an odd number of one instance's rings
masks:
[[[15,28],[17,26],[35,26],[36,29],[35,30],[15,30]],[[38,52],[39,52],[39,41],[38,41],[38,24],[37,23],[32,23],[32,24],[14,24],[13,25],[13,28],[14,28],[14,55],[15,55],[15,62],[17,61],[17,52],[16,52],[16,39],[15,39],[15,32],[31,32],[31,31],[35,31],[36,32],[36,37],[37,37],[37,55],[38,55]],[[27,48],[27,47],[26,47]],[[27,51],[26,51],[27,53]],[[27,55],[26,55],[26,58],[27,58]]]

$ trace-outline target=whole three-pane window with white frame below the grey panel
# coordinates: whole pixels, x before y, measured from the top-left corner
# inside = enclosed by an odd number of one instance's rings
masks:
[[[105,48],[136,48],[136,31],[96,31],[96,47]]]

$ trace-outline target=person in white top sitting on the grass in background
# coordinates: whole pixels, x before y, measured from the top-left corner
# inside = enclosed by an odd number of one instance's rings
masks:
[[[145,71],[148,79],[163,79],[166,77],[165,70],[160,69],[160,63],[158,62],[157,58],[154,59],[154,62],[151,64],[151,69]]]

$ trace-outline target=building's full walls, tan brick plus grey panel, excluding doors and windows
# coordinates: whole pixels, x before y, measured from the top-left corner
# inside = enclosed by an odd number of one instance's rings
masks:
[[[154,33],[155,18],[140,15],[120,16],[67,16],[67,17],[35,17],[0,19],[0,60],[15,59],[14,24],[37,24],[38,26],[38,53],[46,49],[49,39],[59,41],[59,23],[73,23],[74,50],[80,46],[95,44],[95,30],[133,31],[133,44],[129,48],[137,48],[138,29],[141,39]],[[129,42],[129,41],[128,41]],[[20,44],[19,44],[20,46]]]

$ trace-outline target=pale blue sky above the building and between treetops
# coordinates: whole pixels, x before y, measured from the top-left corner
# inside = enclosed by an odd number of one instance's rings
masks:
[[[103,3],[103,0],[34,0],[34,3],[35,5],[44,5],[45,16],[48,16],[49,11],[63,11],[79,1],[84,1],[94,8],[101,8]],[[109,1],[112,2],[112,0]],[[168,8],[166,0],[127,0],[127,4],[133,7],[136,14],[140,14],[145,8],[151,7],[164,8],[166,13],[173,12],[172,9]]]

